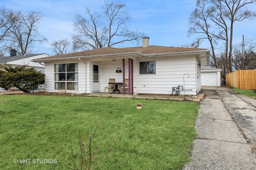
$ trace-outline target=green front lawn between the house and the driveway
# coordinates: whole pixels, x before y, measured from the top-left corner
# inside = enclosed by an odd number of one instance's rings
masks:
[[[137,103],[142,104],[142,109],[136,109]],[[199,104],[194,102],[0,96],[0,169],[74,168],[71,146],[79,164],[78,130],[88,144],[99,119],[93,149],[110,130],[93,165],[102,160],[122,123],[123,127],[98,169],[180,170],[190,160],[198,109]],[[15,159],[18,163],[14,163]]]

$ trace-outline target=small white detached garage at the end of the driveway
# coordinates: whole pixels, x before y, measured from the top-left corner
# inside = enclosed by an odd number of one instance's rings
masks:
[[[202,86],[220,86],[219,68],[201,66],[201,85]]]

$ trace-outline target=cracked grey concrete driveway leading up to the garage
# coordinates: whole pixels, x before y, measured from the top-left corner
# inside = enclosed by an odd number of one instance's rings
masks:
[[[204,87],[183,170],[256,170],[256,100],[229,88]]]

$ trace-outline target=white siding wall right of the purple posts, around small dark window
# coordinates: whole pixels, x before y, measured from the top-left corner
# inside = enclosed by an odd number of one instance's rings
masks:
[[[184,74],[189,74],[189,78]],[[138,64],[134,61],[134,86],[138,94],[172,94],[172,87],[185,84],[186,91],[180,94],[195,95],[196,78],[195,57],[156,58],[156,74],[152,75],[138,74]]]

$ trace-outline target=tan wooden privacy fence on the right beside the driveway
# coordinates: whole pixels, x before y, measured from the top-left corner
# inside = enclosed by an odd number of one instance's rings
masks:
[[[237,70],[226,74],[226,84],[238,89],[256,89],[256,70]]]

